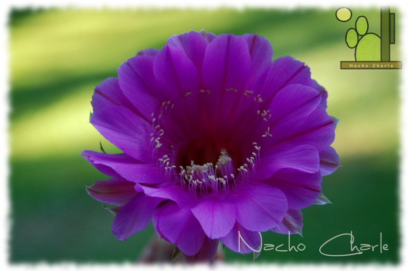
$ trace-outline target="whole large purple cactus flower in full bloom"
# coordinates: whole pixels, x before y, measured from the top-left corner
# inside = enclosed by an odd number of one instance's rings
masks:
[[[300,209],[328,202],[322,175],[339,157],[327,93],[303,63],[271,59],[256,34],[192,31],[95,87],[90,122],[123,153],[82,156],[112,176],[87,191],[117,205],[116,238],[152,220],[187,259],[212,261],[218,240],[238,252],[240,232],[257,249],[258,232],[301,233]]]

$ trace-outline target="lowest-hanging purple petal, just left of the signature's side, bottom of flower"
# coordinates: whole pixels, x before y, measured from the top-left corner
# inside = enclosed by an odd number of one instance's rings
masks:
[[[159,218],[160,232],[187,256],[200,250],[206,234],[190,208],[179,208],[175,203],[166,204]]]

